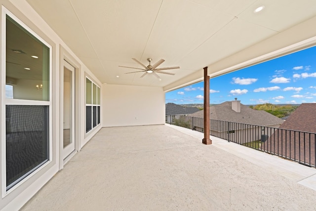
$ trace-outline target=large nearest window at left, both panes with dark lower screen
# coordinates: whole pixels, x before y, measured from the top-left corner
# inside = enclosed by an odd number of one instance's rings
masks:
[[[51,47],[20,23],[6,15],[6,190],[49,161]]]

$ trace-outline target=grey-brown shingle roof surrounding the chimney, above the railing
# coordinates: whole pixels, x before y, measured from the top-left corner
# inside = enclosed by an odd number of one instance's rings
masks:
[[[189,117],[203,118],[204,111],[198,111]],[[266,112],[249,108],[240,103],[240,113],[232,110],[232,102],[226,101],[210,107],[210,119],[257,126],[272,126],[282,124],[284,121]]]

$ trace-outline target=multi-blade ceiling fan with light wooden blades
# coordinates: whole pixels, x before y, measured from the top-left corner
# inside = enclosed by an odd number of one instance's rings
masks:
[[[149,61],[149,65],[146,67],[145,65],[143,65],[140,61],[138,61],[137,59],[132,58],[135,62],[137,62],[138,64],[140,64],[142,67],[144,67],[144,69],[142,68],[135,68],[135,67],[126,67],[126,68],[132,68],[132,69],[138,69],[138,70],[142,70],[142,71],[136,71],[136,72],[130,72],[130,73],[139,73],[139,72],[145,72],[140,78],[143,78],[146,74],[151,73],[154,76],[156,76],[157,78],[160,78],[158,76],[157,73],[162,73],[162,74],[168,74],[168,75],[175,75],[174,73],[168,73],[168,72],[163,72],[161,70],[171,70],[171,69],[179,69],[180,67],[162,67],[162,68],[157,68],[162,62],[164,62],[163,59],[160,59],[156,64],[154,64],[153,66],[150,64],[150,62],[152,61],[151,58],[148,58],[147,61]],[[118,66],[118,67],[125,67],[125,66]],[[129,73],[125,73],[125,74],[129,74]]]

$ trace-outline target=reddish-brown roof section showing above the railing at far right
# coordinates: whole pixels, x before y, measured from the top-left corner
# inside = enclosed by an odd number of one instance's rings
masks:
[[[280,128],[316,133],[316,103],[302,103]]]

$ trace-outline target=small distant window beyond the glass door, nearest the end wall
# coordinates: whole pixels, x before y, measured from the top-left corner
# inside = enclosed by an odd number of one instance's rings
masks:
[[[85,132],[100,124],[100,87],[86,78]]]

